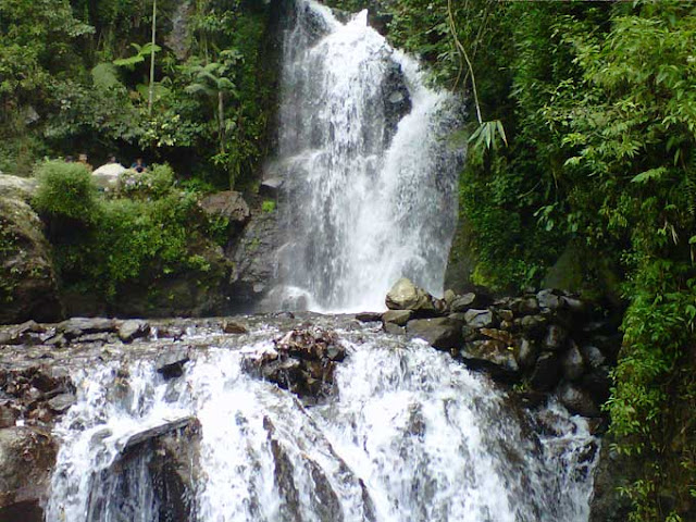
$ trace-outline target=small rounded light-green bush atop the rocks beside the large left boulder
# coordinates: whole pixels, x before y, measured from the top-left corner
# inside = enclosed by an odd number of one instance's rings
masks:
[[[59,217],[83,223],[97,219],[97,188],[91,174],[80,163],[47,161],[35,172],[39,188],[34,207],[49,219]]]

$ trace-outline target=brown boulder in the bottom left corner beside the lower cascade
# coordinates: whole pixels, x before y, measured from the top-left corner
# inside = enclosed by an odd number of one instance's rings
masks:
[[[44,430],[0,430],[0,520],[41,522],[55,463],[55,444]]]

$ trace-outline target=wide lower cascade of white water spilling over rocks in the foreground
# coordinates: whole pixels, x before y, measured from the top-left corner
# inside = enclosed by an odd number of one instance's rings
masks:
[[[142,361],[80,372],[47,522],[587,521],[596,443],[583,419],[551,406],[566,435],[534,433],[487,377],[423,341],[337,332],[348,355],[335,396],[312,407],[245,370],[272,348],[268,325],[224,348],[210,336],[179,378]],[[157,451],[126,464],[121,451],[182,415],[200,422],[200,440],[185,442],[192,508],[169,519],[153,493]]]

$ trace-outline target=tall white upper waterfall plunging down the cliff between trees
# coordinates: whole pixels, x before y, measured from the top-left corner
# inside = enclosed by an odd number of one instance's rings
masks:
[[[456,105],[368,25],[297,0],[286,29],[277,160],[276,306],[384,308],[401,276],[442,295],[457,211]],[[283,302],[283,299],[286,299]]]

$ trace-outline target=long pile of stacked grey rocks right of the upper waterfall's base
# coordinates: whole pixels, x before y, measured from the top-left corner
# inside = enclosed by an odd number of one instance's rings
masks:
[[[601,310],[572,295],[545,289],[493,300],[448,290],[436,299],[401,278],[386,304],[387,333],[420,337],[472,370],[520,384],[526,403],[552,393],[571,412],[599,417],[609,397],[621,337]]]

